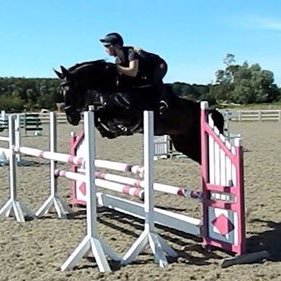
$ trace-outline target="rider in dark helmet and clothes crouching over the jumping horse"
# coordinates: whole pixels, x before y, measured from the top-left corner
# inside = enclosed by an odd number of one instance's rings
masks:
[[[167,63],[158,55],[142,49],[124,46],[120,34],[113,32],[100,39],[110,56],[116,58],[117,70],[126,77],[131,77],[143,86],[157,88],[160,100],[160,114],[168,109],[168,100],[163,87],[163,77],[167,73]]]

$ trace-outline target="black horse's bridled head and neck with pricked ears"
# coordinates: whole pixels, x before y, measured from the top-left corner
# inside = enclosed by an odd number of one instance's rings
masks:
[[[90,90],[102,92],[116,88],[116,67],[104,60],[76,64],[69,69],[61,66],[61,72],[54,71],[61,79],[67,120],[74,126],[80,122],[81,111],[89,105]]]

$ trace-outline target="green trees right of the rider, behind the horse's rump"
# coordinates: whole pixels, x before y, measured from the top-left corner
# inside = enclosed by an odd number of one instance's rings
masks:
[[[281,88],[274,83],[272,71],[259,64],[246,61],[235,64],[233,54],[224,58],[225,69],[219,69],[215,81],[208,85],[173,83],[177,95],[194,100],[207,100],[211,104],[257,104],[281,101]]]

